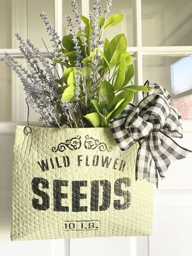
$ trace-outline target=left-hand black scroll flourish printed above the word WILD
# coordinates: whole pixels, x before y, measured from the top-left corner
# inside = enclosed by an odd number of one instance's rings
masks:
[[[66,147],[69,148],[70,150],[77,150],[81,147],[82,142],[81,142],[81,136],[77,135],[77,137],[73,137],[70,140],[66,140],[66,142],[61,142],[59,145],[56,147],[52,147],[53,152],[64,152]]]

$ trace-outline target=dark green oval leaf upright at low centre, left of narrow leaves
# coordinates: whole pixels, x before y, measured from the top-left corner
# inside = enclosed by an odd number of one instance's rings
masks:
[[[113,86],[108,81],[104,80],[99,87],[98,96],[103,107],[109,110],[115,98]]]

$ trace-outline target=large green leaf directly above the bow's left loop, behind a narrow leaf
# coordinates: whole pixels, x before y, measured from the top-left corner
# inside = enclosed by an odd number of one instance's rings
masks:
[[[133,96],[134,96],[134,92],[132,92],[132,91],[123,91],[123,92],[117,94],[109,111],[113,111],[115,109],[117,103],[120,102],[122,99],[125,99],[124,102],[121,103],[120,107],[115,111],[115,117],[117,115],[121,114],[121,112],[130,103]],[[114,119],[115,117],[114,117],[114,115],[112,115],[111,119]]]

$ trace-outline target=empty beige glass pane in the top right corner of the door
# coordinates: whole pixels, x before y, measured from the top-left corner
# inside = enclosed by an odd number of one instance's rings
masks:
[[[192,45],[191,0],[142,0],[142,45]]]

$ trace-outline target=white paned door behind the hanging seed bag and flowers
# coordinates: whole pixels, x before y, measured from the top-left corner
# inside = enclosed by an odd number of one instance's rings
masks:
[[[94,0],[76,0],[88,16]],[[103,6],[106,0],[101,0]],[[39,13],[48,13],[60,36],[67,30],[70,0],[0,0],[0,54],[8,51],[25,64],[14,33],[19,32],[46,54],[51,43]],[[124,21],[106,31],[111,40],[125,33],[134,62],[135,84],[159,83],[171,93],[183,117],[180,145],[192,149],[192,0],[114,0],[110,14]],[[141,99],[139,94],[138,100]],[[171,164],[166,179],[154,188],[153,235],[150,237],[60,239],[10,242],[12,148],[16,124],[27,120],[22,85],[0,62],[0,255],[2,256],[190,256],[192,255],[191,157]],[[30,110],[29,121],[37,122]],[[35,124],[35,123],[34,123]]]

